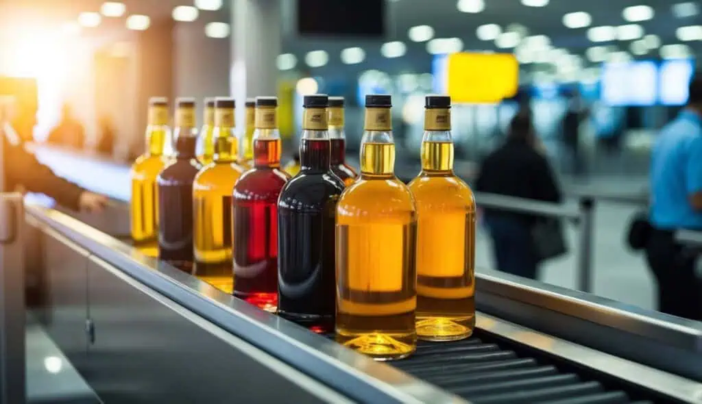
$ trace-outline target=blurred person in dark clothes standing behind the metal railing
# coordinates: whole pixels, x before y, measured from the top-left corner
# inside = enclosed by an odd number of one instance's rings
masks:
[[[482,163],[476,191],[559,202],[561,191],[534,133],[531,115],[523,110],[512,119],[505,143]],[[487,209],[484,221],[493,238],[497,269],[536,279],[539,257],[531,229],[539,217]]]

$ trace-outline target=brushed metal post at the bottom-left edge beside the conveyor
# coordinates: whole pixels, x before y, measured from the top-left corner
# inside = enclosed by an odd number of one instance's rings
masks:
[[[0,403],[26,400],[23,220],[22,195],[0,193]]]

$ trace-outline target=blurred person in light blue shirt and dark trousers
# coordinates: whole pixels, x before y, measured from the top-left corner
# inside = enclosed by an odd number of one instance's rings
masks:
[[[675,242],[678,229],[702,230],[702,75],[689,101],[665,126],[651,154],[651,234],[646,248],[658,281],[658,310],[702,320],[696,255]]]

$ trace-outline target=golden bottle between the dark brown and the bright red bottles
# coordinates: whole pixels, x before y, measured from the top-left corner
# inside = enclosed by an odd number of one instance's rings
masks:
[[[194,275],[232,292],[232,190],[244,169],[237,164],[234,100],[215,100],[215,155],[193,185]]]

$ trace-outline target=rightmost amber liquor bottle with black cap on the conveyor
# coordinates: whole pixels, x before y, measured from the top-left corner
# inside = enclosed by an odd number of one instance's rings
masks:
[[[425,100],[417,203],[417,335],[463,339],[475,327],[475,199],[453,173],[451,98]]]

